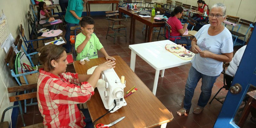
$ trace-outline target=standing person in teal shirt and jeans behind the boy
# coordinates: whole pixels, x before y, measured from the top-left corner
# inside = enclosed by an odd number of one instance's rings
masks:
[[[71,52],[70,39],[70,27],[79,26],[79,21],[82,20],[82,12],[85,4],[88,0],[68,0],[68,8],[65,15],[65,21],[67,23],[65,39],[67,43],[63,45],[66,48],[66,52]]]

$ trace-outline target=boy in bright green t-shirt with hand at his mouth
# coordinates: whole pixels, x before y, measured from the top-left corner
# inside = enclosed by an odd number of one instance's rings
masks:
[[[86,16],[82,18],[80,24],[82,32],[76,36],[76,60],[81,60],[85,57],[89,59],[98,58],[98,50],[105,56],[106,60],[116,60],[108,55],[99,38],[93,33],[94,20]]]

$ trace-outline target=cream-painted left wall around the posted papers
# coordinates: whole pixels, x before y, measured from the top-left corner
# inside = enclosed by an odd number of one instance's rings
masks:
[[[25,29],[26,36],[28,36],[28,22],[25,16],[30,9],[29,5],[30,0],[0,0],[0,14],[2,14],[3,10],[8,20],[9,30],[14,39],[19,34],[18,28],[20,24],[22,24]],[[4,49],[0,49],[0,118],[5,108],[13,106],[13,102],[9,102],[9,96],[15,95],[15,93],[7,94],[6,87],[12,87],[15,83],[12,79],[11,71],[4,61],[5,55]],[[12,109],[8,110],[4,117],[4,121],[8,121],[9,124],[11,112]]]

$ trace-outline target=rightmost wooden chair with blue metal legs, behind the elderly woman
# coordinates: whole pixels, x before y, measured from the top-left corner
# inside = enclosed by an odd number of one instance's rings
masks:
[[[244,20],[244,19],[240,19],[239,24],[240,24],[240,25],[238,25],[238,29],[237,29],[236,31],[234,31],[234,30],[230,31],[230,33],[231,33],[232,36],[233,36],[233,47],[234,47],[234,46],[241,46],[241,45],[243,46],[243,45],[245,44],[245,39],[246,39],[245,37],[246,37],[248,31],[249,31],[251,28],[253,28],[253,26],[254,26],[254,23],[253,23],[253,22],[248,21],[248,20]],[[250,24],[251,24],[251,25],[250,25]],[[243,25],[244,27],[247,27],[247,31],[246,31],[244,34],[238,32],[239,28],[240,28],[242,25]],[[243,43],[236,42],[236,40],[237,40],[238,37],[244,37]]]

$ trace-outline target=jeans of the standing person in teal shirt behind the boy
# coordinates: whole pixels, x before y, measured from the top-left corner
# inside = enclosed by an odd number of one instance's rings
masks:
[[[66,48],[66,52],[71,52],[71,45],[70,45],[70,42],[69,42],[69,39],[70,39],[70,27],[74,27],[74,26],[79,26],[79,24],[71,24],[71,23],[68,23],[67,22],[67,27],[66,27],[66,34],[65,34],[65,39],[67,41],[66,44],[63,45],[64,48]]]

